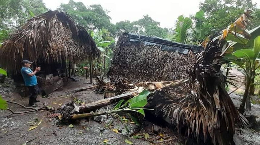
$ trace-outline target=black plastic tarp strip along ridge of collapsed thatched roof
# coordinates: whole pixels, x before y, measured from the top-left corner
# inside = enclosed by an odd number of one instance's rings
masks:
[[[162,51],[169,51],[169,52],[174,51],[182,54],[188,54],[190,50],[193,53],[200,53],[203,50],[201,46],[172,42],[160,37],[148,37],[145,35],[140,35],[139,37],[138,34],[131,34],[131,33],[123,33],[121,34],[121,36],[130,38],[130,42],[133,43],[139,42],[141,40],[144,45],[160,46]]]

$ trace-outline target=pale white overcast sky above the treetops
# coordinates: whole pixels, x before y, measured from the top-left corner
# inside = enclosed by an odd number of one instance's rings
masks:
[[[179,15],[189,16],[199,10],[202,0],[74,0],[83,2],[86,6],[100,4],[103,9],[107,9],[111,22],[115,24],[119,21],[136,21],[148,14],[153,20],[161,23],[161,27],[173,27]],[[252,0],[258,2],[260,0]],[[69,0],[43,0],[47,8],[56,10],[60,3],[68,3]]]

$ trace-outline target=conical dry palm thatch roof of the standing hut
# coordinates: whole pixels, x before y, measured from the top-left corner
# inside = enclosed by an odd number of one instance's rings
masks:
[[[21,60],[49,64],[99,56],[100,51],[86,29],[69,14],[58,11],[31,18],[0,47],[0,64],[16,74]]]

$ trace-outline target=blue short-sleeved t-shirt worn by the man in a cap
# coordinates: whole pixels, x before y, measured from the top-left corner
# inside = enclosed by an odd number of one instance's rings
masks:
[[[35,75],[29,76],[28,74],[32,73],[33,71],[30,68],[22,67],[21,74],[24,78],[25,86],[32,86],[37,85],[37,78]]]

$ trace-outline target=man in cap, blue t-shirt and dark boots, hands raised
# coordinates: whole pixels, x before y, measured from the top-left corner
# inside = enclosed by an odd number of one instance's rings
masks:
[[[31,96],[30,96],[30,99],[29,99],[29,105],[30,106],[37,106],[37,104],[35,104],[36,102],[39,102],[39,100],[36,100],[37,98],[37,95],[38,95],[38,83],[37,83],[37,78],[35,76],[35,74],[37,72],[39,72],[41,70],[40,67],[37,67],[35,69],[35,71],[33,72],[30,67],[31,67],[31,64],[32,62],[29,61],[29,60],[23,60],[22,62],[22,69],[21,69],[21,74],[24,78],[24,84],[25,86],[28,87],[30,93],[31,93]]]

